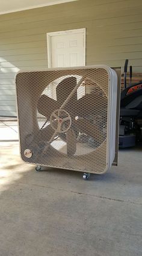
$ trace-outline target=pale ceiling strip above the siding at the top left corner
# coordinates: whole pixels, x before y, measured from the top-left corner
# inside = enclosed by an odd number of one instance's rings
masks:
[[[0,0],[0,14],[28,10],[76,0]]]

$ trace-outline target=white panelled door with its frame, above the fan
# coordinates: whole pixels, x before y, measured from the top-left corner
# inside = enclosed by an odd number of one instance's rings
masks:
[[[85,28],[47,34],[48,66],[85,66]]]

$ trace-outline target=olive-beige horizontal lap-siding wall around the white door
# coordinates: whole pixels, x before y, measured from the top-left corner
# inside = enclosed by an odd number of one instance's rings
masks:
[[[16,116],[14,75],[48,67],[46,33],[86,28],[86,64],[142,72],[142,1],[79,0],[0,16],[0,116]]]

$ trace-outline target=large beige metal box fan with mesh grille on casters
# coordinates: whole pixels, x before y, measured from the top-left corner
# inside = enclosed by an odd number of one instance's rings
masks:
[[[18,72],[20,155],[26,163],[90,173],[115,156],[117,75],[108,66]]]

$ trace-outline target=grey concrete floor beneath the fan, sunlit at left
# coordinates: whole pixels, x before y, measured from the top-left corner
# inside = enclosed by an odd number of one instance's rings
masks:
[[[0,142],[0,256],[141,256],[142,149],[105,175],[34,166]]]

